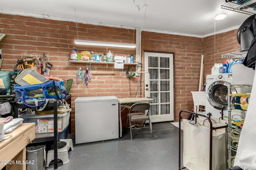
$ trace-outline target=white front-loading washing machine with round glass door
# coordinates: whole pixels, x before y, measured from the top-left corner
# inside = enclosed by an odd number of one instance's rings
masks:
[[[224,115],[228,115],[228,84],[232,84],[232,74],[210,74],[206,76],[206,114],[221,117],[223,109]],[[241,82],[242,84],[242,82]],[[247,93],[250,89],[231,88],[232,94]]]

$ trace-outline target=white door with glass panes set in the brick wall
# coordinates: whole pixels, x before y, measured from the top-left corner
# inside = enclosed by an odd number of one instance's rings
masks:
[[[174,120],[174,70],[173,54],[145,52],[145,97],[150,104],[151,121]],[[149,80],[148,80],[149,77]]]

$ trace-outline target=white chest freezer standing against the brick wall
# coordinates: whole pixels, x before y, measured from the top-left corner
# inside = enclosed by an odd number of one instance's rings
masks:
[[[119,138],[118,98],[79,97],[75,100],[76,144]]]

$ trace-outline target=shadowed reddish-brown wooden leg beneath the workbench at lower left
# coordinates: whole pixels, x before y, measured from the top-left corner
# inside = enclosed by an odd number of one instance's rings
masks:
[[[22,149],[13,159],[14,164],[7,164],[6,170],[26,170],[26,147]]]

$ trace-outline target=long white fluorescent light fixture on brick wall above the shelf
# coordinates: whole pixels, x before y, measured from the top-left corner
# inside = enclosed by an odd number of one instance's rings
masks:
[[[87,40],[78,40],[78,39],[75,39],[75,44],[104,46],[104,47],[122,47],[122,48],[135,48],[136,47],[136,44],[110,43],[110,42],[103,42],[103,41],[87,41]]]

